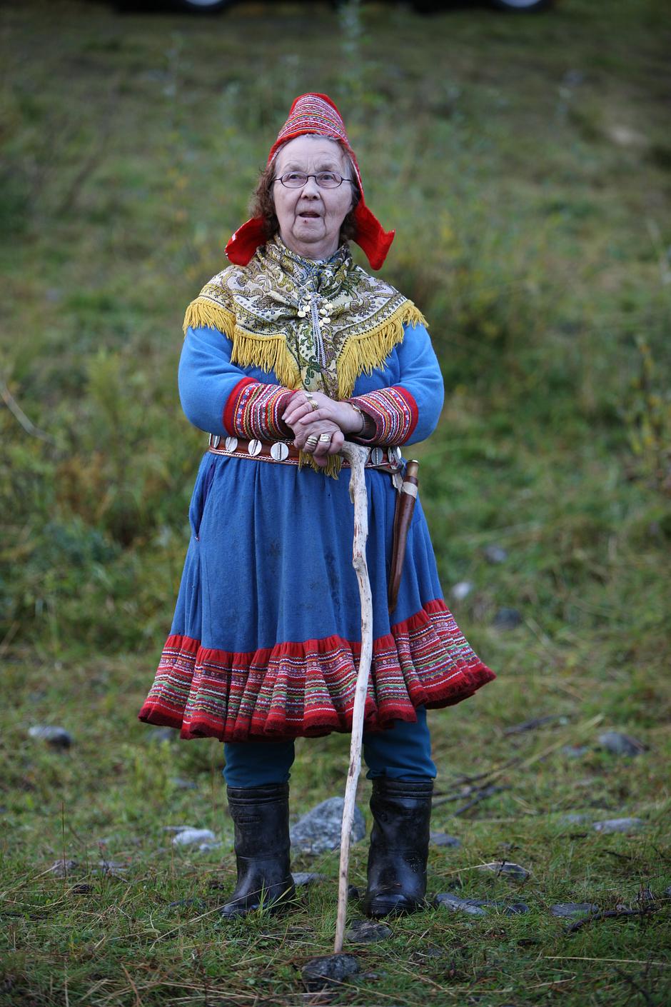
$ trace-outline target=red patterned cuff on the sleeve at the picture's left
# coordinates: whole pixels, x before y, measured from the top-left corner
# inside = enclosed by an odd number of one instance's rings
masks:
[[[282,414],[295,392],[281,385],[263,385],[243,378],[228,396],[223,410],[223,426],[235,437],[284,440],[293,437]]]

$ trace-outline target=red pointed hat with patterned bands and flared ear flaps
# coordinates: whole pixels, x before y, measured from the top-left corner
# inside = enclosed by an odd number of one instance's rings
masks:
[[[371,268],[379,269],[389,251],[394,232],[384,231],[377,218],[370,212],[365,204],[359,165],[347,139],[342,117],[328,95],[308,94],[301,95],[296,99],[291,107],[287,122],[280,130],[278,138],[271,148],[268,163],[271,163],[280,147],[288,140],[293,140],[297,136],[305,136],[307,133],[315,133],[318,136],[337,140],[352,159],[361,192],[361,198],[354,210],[356,234],[353,240],[365,252]],[[235,265],[246,266],[259,246],[265,245],[267,240],[264,219],[253,217],[232,236],[226,245],[226,255]]]

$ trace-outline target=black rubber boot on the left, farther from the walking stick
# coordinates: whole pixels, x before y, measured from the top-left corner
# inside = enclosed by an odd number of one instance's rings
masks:
[[[289,783],[228,786],[237,884],[219,910],[227,919],[284,908],[296,894],[289,860]]]

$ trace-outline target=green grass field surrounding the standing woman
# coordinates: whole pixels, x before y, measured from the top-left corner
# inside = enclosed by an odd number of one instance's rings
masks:
[[[432,716],[438,789],[459,797],[437,800],[433,828],[462,845],[432,848],[430,892],[529,906],[393,921],[387,941],[349,946],[361,974],[323,1002],[668,1003],[665,6],[0,13],[0,1004],[320,1002],[300,968],[332,947],[336,854],[297,860],[330,880],[292,913],[218,924],[234,876],[221,748],[157,741],[136,720],[203,448],[176,393],[184,306],[221,268],[307,90],[339,103],[367,201],[396,228],[383,275],[431,323],[447,398],[418,449],[423,500],[446,594],[474,585],[451,607],[498,674]],[[497,626],[501,608],[515,628]],[[35,724],[72,746],[29,737]],[[613,755],[606,730],[646,750]],[[296,816],[342,794],[348,738],[299,748]],[[454,814],[488,781],[499,788]],[[625,816],[642,827],[591,824]],[[163,827],[183,824],[222,848],[174,848]],[[61,878],[60,858],[77,862]],[[501,859],[529,878],[478,870]],[[638,914],[568,932],[549,912],[562,901]]]

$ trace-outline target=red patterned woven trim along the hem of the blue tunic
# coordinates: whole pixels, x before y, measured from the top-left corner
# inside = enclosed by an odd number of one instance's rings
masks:
[[[139,719],[174,727],[184,739],[285,740],[348,732],[360,649],[359,641],[327,636],[240,654],[171,635]],[[429,601],[374,640],[364,728],[413,722],[416,707],[461,703],[494,678],[445,602]]]

